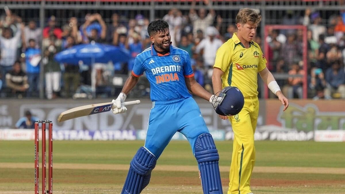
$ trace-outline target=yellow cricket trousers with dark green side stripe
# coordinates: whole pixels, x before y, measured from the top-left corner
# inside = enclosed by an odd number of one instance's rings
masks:
[[[248,194],[255,164],[254,132],[259,114],[258,97],[244,99],[239,114],[229,117],[234,131],[228,194]]]

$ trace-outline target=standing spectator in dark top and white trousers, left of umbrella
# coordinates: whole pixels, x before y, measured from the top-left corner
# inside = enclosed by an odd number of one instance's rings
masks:
[[[45,66],[46,95],[48,99],[56,98],[60,92],[61,68],[60,64],[54,60],[54,56],[61,50],[60,46],[51,41],[49,47],[44,51],[42,64]]]

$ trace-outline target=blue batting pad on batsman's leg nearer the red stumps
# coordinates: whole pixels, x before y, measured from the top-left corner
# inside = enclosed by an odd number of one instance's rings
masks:
[[[156,157],[140,147],[133,157],[121,194],[139,194],[150,182],[151,171],[156,166]]]

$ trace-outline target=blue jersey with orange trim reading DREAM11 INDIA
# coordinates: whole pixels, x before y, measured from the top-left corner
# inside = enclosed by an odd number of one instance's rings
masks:
[[[166,55],[158,54],[154,45],[142,51],[134,61],[132,74],[136,77],[145,72],[151,85],[152,101],[169,101],[189,98],[185,77],[193,77],[187,51],[170,45]]]

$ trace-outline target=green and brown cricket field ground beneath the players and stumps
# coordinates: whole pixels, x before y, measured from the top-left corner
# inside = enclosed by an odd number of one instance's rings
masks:
[[[54,141],[54,192],[120,193],[127,174],[126,165],[143,143]],[[219,164],[223,167],[221,178],[226,193],[232,142],[216,142],[216,145],[220,155]],[[33,193],[34,142],[0,141],[0,148],[0,193]],[[290,167],[292,172],[282,173],[279,168],[272,172],[255,172],[254,169],[252,190],[255,194],[345,193],[344,153],[345,143],[257,141],[257,168]],[[7,167],[2,167],[4,164]],[[65,164],[74,165],[77,169],[64,168]],[[158,169],[164,165],[167,169]],[[105,166],[106,169],[99,169],[99,166]],[[187,171],[174,170],[189,166],[190,170]],[[314,167],[315,172],[302,173],[294,171],[294,167]],[[320,173],[319,168],[336,168],[339,172]],[[187,141],[172,141],[159,158],[151,182],[142,193],[202,193],[195,169],[197,163]]]

